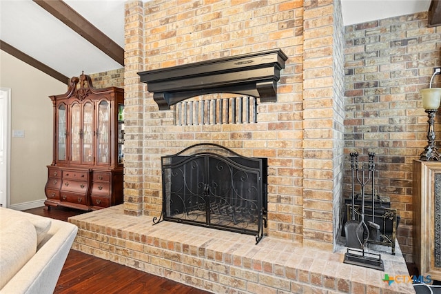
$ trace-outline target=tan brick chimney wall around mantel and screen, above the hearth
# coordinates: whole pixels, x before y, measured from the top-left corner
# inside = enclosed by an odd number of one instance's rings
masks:
[[[268,234],[332,250],[342,177],[342,21],[329,1],[132,1],[125,21],[125,213],[159,215],[161,156],[200,142],[269,159]],[[281,48],[257,124],[176,126],[136,72]],[[338,60],[336,63],[333,59]]]

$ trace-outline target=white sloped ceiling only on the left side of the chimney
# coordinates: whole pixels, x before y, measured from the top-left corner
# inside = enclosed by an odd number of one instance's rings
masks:
[[[64,0],[124,48],[124,1]],[[31,0],[0,0],[0,39],[67,77],[122,68]]]

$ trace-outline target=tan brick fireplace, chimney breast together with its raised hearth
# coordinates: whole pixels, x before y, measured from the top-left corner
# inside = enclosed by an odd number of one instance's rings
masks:
[[[410,291],[387,288],[378,271],[342,265],[336,241],[347,190],[345,91],[356,95],[345,88],[339,1],[130,1],[125,30],[125,202],[72,219],[80,226],[76,248],[199,288],[220,287],[212,291]],[[252,123],[177,124],[176,106],[160,110],[138,75],[274,48],[288,57],[277,100],[259,100]],[[162,209],[161,157],[203,142],[267,158],[267,231],[258,247],[245,246],[237,233],[151,226]],[[216,243],[212,234],[229,242]],[[384,258],[389,275],[407,271],[399,248],[396,257]]]

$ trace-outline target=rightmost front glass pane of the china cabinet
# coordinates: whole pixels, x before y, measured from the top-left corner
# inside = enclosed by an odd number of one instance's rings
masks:
[[[110,104],[101,101],[98,105],[98,162],[108,164],[110,151]]]

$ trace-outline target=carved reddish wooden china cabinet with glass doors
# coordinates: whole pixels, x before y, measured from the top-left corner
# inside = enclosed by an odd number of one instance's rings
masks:
[[[124,90],[95,89],[88,75],[50,96],[54,152],[45,208],[96,210],[123,203]]]

